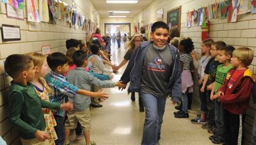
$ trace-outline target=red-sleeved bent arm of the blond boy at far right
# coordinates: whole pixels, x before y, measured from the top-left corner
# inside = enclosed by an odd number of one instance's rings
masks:
[[[242,80],[241,88],[235,94],[221,95],[221,103],[240,103],[241,101],[248,100],[252,93],[252,80],[250,77],[244,77]]]

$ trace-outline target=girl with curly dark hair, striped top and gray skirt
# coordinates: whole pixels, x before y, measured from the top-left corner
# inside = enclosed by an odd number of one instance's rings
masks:
[[[181,61],[181,82],[182,82],[182,110],[174,112],[174,117],[176,118],[189,118],[189,112],[187,111],[188,107],[188,98],[187,93],[193,92],[194,82],[192,80],[190,72],[190,64],[193,62],[191,52],[194,50],[193,42],[190,38],[182,39],[179,42],[179,53]]]

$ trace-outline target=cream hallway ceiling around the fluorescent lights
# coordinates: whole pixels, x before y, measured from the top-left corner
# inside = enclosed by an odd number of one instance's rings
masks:
[[[111,10],[130,10],[129,14],[114,15],[126,15],[127,18],[134,18],[153,1],[154,0],[139,0],[137,4],[107,4],[106,0],[91,0],[101,18],[108,18],[108,11]]]

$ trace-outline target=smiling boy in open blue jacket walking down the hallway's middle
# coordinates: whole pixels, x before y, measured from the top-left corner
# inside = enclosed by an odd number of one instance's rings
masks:
[[[130,58],[121,77],[128,92],[139,92],[146,109],[142,145],[159,144],[161,124],[168,95],[173,104],[181,100],[181,66],[177,48],[168,44],[168,25],[155,22],[150,37]]]

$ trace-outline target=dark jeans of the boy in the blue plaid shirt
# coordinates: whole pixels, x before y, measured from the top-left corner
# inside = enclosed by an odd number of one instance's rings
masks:
[[[56,120],[57,125],[54,127],[54,130],[56,131],[56,134],[58,136],[58,139],[55,140],[56,145],[63,145],[64,144],[64,118],[62,116],[54,116],[54,119]]]

